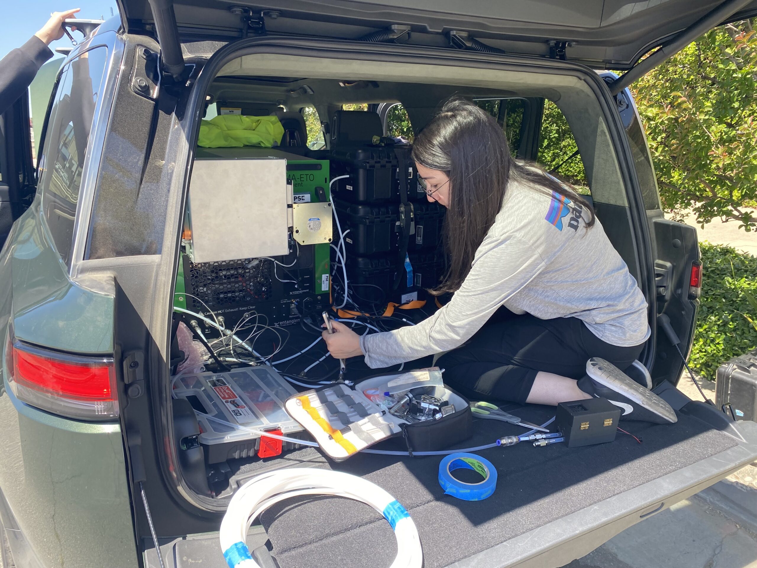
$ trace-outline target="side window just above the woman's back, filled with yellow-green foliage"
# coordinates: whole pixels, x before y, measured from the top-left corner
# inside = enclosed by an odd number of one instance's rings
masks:
[[[539,164],[584,195],[590,195],[584,162],[568,120],[552,101],[544,101],[539,139]]]

